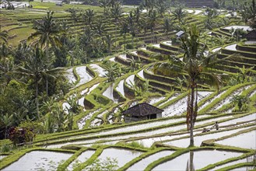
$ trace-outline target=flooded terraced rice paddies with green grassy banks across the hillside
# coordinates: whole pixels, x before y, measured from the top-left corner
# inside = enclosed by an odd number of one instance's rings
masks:
[[[73,23],[70,14],[61,7],[52,3],[32,4],[32,11],[19,9],[16,16],[12,12],[0,14],[6,19],[4,24],[1,23],[2,29],[9,30],[13,36],[9,37],[13,46],[16,46],[17,40],[26,39],[30,31],[33,32],[33,24],[26,17],[30,15],[31,19],[40,19],[44,14],[36,12],[45,12],[44,8],[54,10],[55,19],[59,23],[61,19],[67,20],[72,33],[79,34],[84,31],[82,19]],[[66,5],[65,9],[71,6],[91,8]],[[94,6],[93,9],[99,14],[103,13],[103,9]],[[202,23],[205,18],[205,9],[186,11],[188,26],[191,23]],[[121,17],[118,26],[124,23],[126,17]],[[202,33],[207,36],[201,38],[211,40],[212,37],[218,38],[220,35],[220,38],[231,39],[231,33],[225,30],[233,26],[247,28],[243,24],[239,25],[237,19],[230,20],[232,23],[212,31],[211,35],[207,34],[210,30],[206,30],[202,25]],[[93,24],[97,21],[99,20]],[[191,92],[188,91],[188,82],[185,82],[188,74],[179,72],[170,75],[160,67],[156,68],[170,62],[173,59],[170,57],[185,62],[181,44],[174,42],[177,30],[166,33],[159,24],[154,33],[139,32],[135,37],[127,35],[128,40],[125,43],[122,41],[122,35],[115,35],[113,21],[105,20],[104,23],[107,23],[107,33],[113,37],[117,36],[113,45],[115,42],[121,42],[120,46],[112,48],[114,52],[106,57],[91,59],[88,64],[65,68],[65,79],[72,86],[56,103],[61,106],[65,116],[73,114],[74,103],[77,106],[79,113],[73,117],[72,131],[37,134],[33,145],[17,147],[10,152],[0,152],[1,170],[255,169],[255,44],[247,44],[246,40],[232,40],[213,46],[211,41],[206,41],[208,47],[202,53],[206,56],[216,53],[220,63],[215,71],[220,75],[227,75],[229,79],[222,82],[219,89],[209,86],[209,82],[198,82],[195,145],[189,146],[190,132],[186,113],[188,95]],[[17,28],[17,25],[24,27]],[[28,31],[19,35],[16,30]],[[120,31],[119,28],[117,30]],[[131,42],[137,42],[138,48],[122,51],[123,45]],[[230,55],[233,54],[239,59],[231,60]],[[120,70],[131,69],[124,70],[110,81],[108,75],[112,70],[109,66],[114,65]],[[167,67],[166,70],[170,68]],[[247,72],[243,72],[245,70]],[[240,108],[233,102],[234,96],[247,97],[247,101]],[[125,122],[121,112],[138,103],[149,103],[163,110],[163,113],[161,117],[152,120]],[[213,127],[216,121],[219,129]],[[209,131],[203,131],[204,128]],[[11,145],[11,141],[2,140],[0,145]]]

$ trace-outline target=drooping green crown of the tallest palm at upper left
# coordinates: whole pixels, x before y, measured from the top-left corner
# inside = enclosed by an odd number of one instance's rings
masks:
[[[53,15],[54,12],[49,11],[47,12],[47,16],[44,16],[42,20],[35,21],[33,28],[36,32],[32,33],[28,38],[28,40],[37,38],[37,43],[39,43],[41,47],[46,48],[47,56],[49,55],[50,44],[55,47],[61,45],[61,41],[58,38],[61,30],[58,23],[55,22]]]

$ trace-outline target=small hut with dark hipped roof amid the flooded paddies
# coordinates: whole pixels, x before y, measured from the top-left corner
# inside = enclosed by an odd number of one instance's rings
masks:
[[[124,110],[124,121],[126,123],[135,122],[139,120],[151,120],[162,117],[163,110],[160,110],[156,106],[152,106],[149,103],[139,103],[130,107],[128,110]]]

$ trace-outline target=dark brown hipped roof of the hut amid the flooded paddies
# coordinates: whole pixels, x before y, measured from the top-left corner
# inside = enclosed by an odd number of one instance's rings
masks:
[[[163,110],[160,110],[159,108],[152,106],[149,103],[140,103],[130,107],[128,110],[124,110],[122,113],[124,115],[131,114],[132,116],[143,117],[143,116],[148,116],[151,114],[162,113],[162,112]]]

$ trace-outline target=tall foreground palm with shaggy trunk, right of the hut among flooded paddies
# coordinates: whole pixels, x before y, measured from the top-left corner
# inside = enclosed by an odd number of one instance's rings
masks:
[[[199,30],[193,25],[190,30],[185,30],[185,35],[181,39],[184,58],[181,61],[174,56],[170,57],[167,63],[156,65],[155,69],[169,70],[173,74],[187,75],[188,80],[188,106],[187,106],[187,125],[190,131],[190,146],[194,145],[194,125],[198,113],[198,82],[204,82],[209,86],[216,86],[219,89],[221,75],[214,66],[219,60],[216,54],[204,55],[205,48],[199,44]]]

